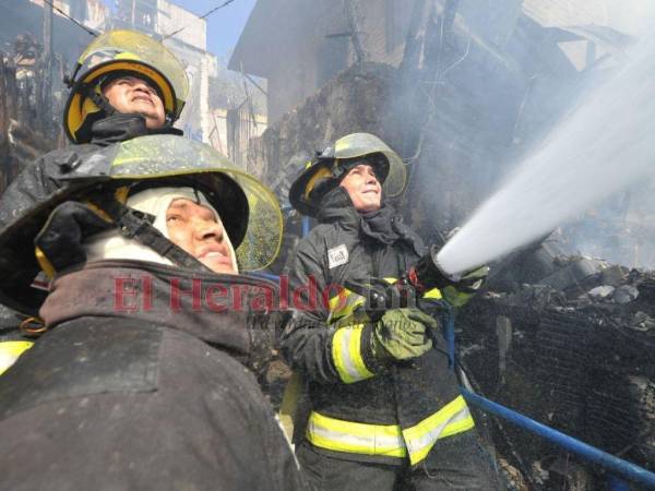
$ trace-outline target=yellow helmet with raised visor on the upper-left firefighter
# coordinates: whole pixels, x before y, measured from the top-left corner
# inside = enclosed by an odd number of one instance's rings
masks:
[[[180,61],[160,43],[134,31],[110,31],[91,43],[78,59],[67,81],[71,93],[63,111],[63,128],[73,143],[90,140],[91,124],[103,117],[108,105],[100,82],[117,73],[146,80],[159,95],[166,121],[180,116],[189,81]]]

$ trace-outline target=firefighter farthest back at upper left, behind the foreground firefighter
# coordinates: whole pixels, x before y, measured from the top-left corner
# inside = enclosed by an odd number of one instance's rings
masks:
[[[29,166],[67,166],[83,155],[145,134],[181,134],[172,123],[189,92],[179,60],[160,43],[133,31],[110,31],[95,38],[67,80],[70,94],[63,128],[74,146],[50,152]],[[0,311],[0,375],[32,346],[17,330],[20,315]]]

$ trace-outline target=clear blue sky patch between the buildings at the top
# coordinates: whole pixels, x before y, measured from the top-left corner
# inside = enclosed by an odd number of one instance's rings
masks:
[[[103,0],[111,8],[112,0]],[[198,15],[207,13],[215,7],[225,3],[225,0],[169,0]],[[257,0],[234,0],[223,9],[217,10],[206,17],[207,22],[207,51],[216,55],[226,64],[229,53],[239,40],[239,35],[248,21],[248,15]],[[192,26],[187,27],[192,28]]]

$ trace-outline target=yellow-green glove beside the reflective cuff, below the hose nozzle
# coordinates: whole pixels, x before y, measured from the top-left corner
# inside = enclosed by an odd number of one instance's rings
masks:
[[[382,362],[420,357],[432,348],[427,330],[437,327],[437,321],[418,309],[389,310],[373,326],[373,355]]]

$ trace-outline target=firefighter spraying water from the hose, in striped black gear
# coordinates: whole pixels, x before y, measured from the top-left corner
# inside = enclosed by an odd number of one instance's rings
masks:
[[[403,185],[397,154],[355,133],[314,158],[289,190],[291,205],[319,221],[291,258],[289,288],[330,292],[318,296],[325,304],[290,316],[283,333],[283,354],[311,406],[297,456],[319,490],[497,489],[438,320],[398,303],[372,321],[364,304],[372,278],[393,282],[425,252],[385,202]],[[449,289],[453,303],[469,295]]]

